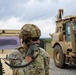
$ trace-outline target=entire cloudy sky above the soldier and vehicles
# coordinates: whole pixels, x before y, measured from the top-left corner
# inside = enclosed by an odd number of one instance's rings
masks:
[[[76,0],[0,0],[0,29],[20,30],[24,24],[35,24],[41,37],[50,37],[58,9],[64,9],[63,17],[76,15]]]

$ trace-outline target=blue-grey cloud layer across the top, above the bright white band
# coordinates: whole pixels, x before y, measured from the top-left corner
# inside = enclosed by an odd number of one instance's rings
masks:
[[[22,21],[46,19],[55,16],[59,8],[63,8],[65,14],[75,14],[75,2],[75,0],[1,0],[0,20],[12,16],[22,18]],[[69,6],[70,4],[72,5]]]

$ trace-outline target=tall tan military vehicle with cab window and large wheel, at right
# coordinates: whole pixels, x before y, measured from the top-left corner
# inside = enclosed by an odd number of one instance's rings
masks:
[[[59,68],[68,64],[76,64],[76,16],[62,17],[63,9],[59,9],[56,20],[56,31],[51,35],[51,46],[54,48],[54,63]]]

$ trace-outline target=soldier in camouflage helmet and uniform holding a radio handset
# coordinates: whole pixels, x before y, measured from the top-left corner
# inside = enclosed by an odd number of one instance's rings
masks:
[[[14,65],[32,62],[27,67],[13,69],[13,75],[49,75],[50,58],[48,53],[38,45],[40,35],[40,29],[33,24],[26,24],[21,28],[20,38],[22,38],[23,47],[18,49],[20,53],[14,52],[16,54],[14,58],[17,58]]]

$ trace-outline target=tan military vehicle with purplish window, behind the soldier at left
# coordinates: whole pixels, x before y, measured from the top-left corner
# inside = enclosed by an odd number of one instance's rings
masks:
[[[12,75],[12,69],[5,61],[8,62],[7,55],[21,45],[19,32],[20,30],[0,30],[0,75]]]

